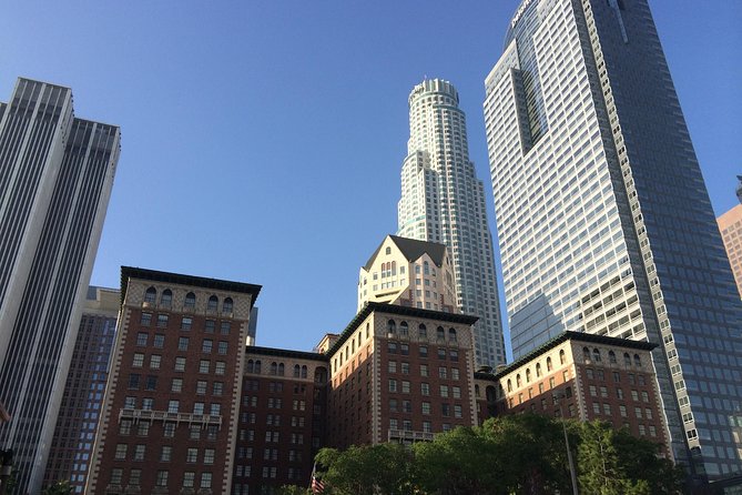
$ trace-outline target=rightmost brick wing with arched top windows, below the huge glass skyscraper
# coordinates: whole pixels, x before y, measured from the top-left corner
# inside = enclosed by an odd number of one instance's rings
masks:
[[[650,356],[657,344],[565,332],[495,374],[477,373],[480,423],[532,412],[627,426],[661,443],[668,433]]]

